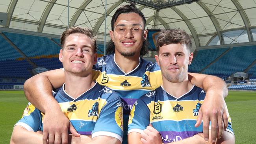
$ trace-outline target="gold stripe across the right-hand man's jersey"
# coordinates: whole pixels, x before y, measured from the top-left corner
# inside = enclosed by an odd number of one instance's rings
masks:
[[[150,109],[150,123],[157,122],[161,120],[184,120],[184,119],[197,119],[194,109],[196,109],[197,103],[203,103],[201,101],[184,100],[184,101],[151,101],[148,103],[148,108]],[[175,107],[176,105],[180,107]],[[174,108],[174,109],[173,109]]]

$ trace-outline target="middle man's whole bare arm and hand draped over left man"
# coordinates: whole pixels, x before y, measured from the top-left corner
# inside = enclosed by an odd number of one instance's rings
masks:
[[[50,70],[37,74],[24,83],[25,96],[35,107],[45,113],[43,125],[43,143],[49,144],[68,142],[68,129],[79,137],[70,125],[69,119],[62,113],[58,102],[52,96],[52,87],[59,88],[64,83],[64,71]],[[54,110],[54,111],[53,111]]]

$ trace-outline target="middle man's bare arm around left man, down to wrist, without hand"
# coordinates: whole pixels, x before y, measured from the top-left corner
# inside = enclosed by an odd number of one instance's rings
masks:
[[[52,70],[37,74],[24,83],[25,96],[43,113],[47,109],[59,109],[58,103],[52,96],[52,86],[61,87],[63,83],[63,70]]]

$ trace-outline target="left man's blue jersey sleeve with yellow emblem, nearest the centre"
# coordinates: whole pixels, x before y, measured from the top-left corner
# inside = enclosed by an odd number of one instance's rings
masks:
[[[92,138],[110,136],[122,142],[123,111],[121,100],[116,93],[111,93],[105,103],[101,109],[99,107],[100,113],[92,131]]]

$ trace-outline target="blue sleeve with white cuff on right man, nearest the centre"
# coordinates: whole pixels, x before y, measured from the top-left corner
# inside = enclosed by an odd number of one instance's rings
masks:
[[[149,99],[147,97],[147,99]],[[150,124],[150,110],[147,105],[150,105],[150,100],[146,102],[145,96],[141,96],[137,100],[129,116],[128,134],[131,132],[141,133]]]

